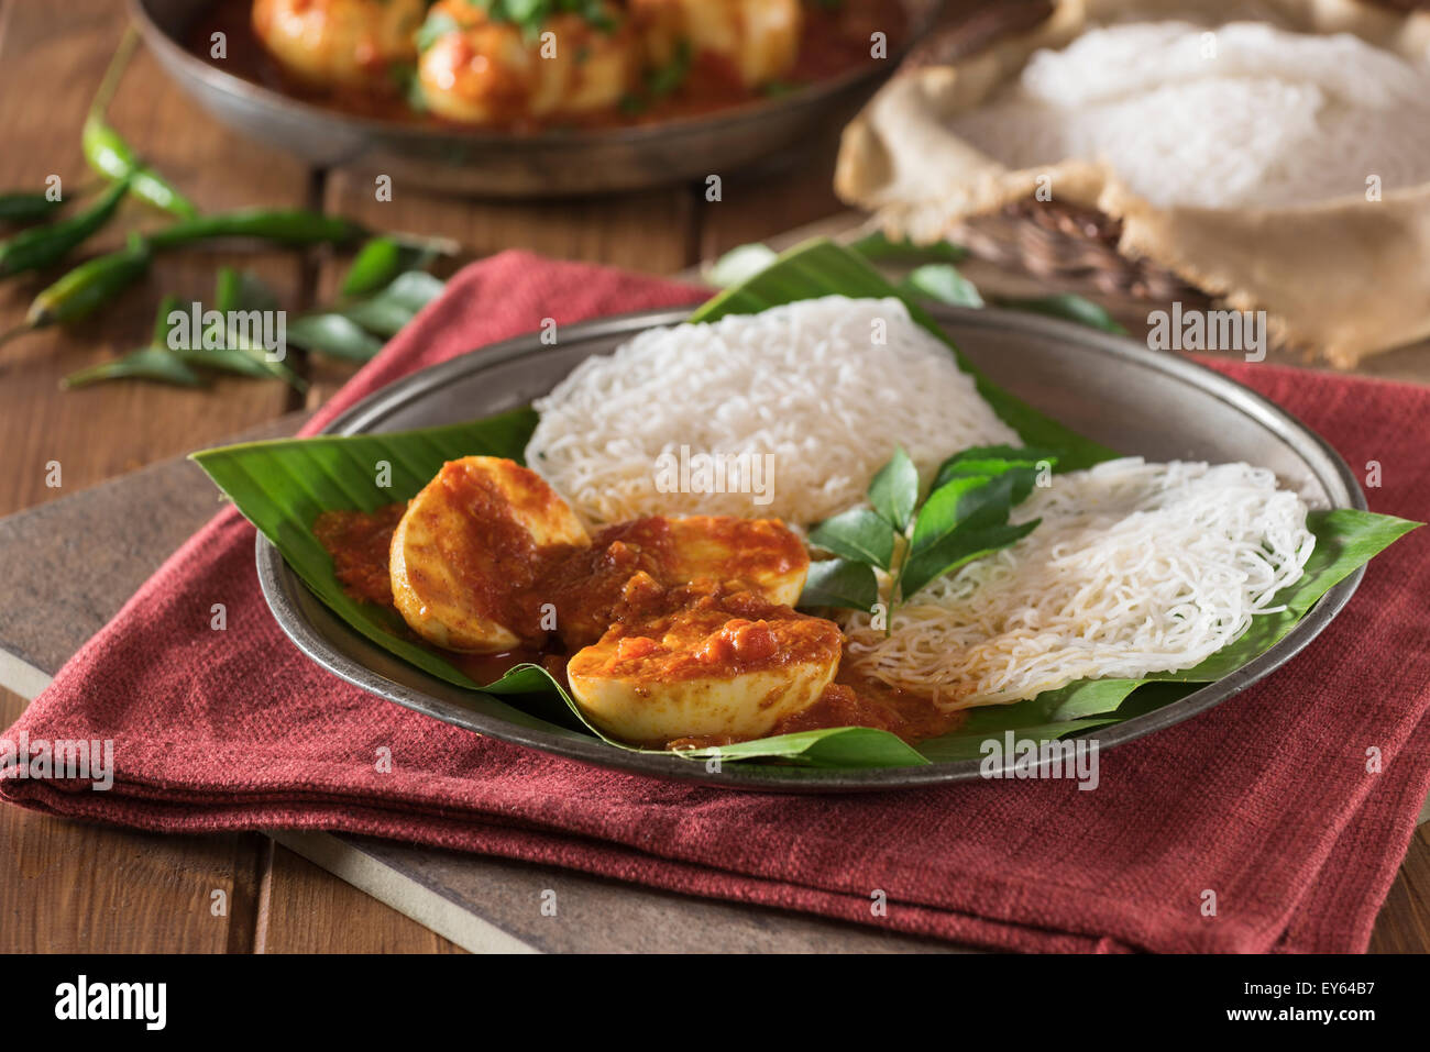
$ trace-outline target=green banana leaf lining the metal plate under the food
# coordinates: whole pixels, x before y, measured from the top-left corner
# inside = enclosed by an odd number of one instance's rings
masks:
[[[692,320],[751,313],[832,293],[897,294],[857,256],[821,242],[785,254],[769,270],[721,293]],[[917,304],[909,304],[909,310],[921,324],[938,333],[932,319]],[[952,343],[950,347],[958,354]],[[961,354],[960,363],[974,374],[984,397],[1027,445],[1057,450],[1060,467],[1068,457],[1087,465],[1114,455],[992,386]],[[523,726],[543,726],[562,733],[572,733],[575,728],[603,738],[613,748],[632,749],[605,739],[589,726],[569,695],[536,665],[518,666],[498,682],[480,685],[440,652],[413,642],[402,630],[396,613],[343,593],[333,576],[332,560],[312,532],[313,522],[325,510],[372,512],[415,496],[446,460],[480,453],[521,462],[535,425],[535,412],[519,409],[485,420],[415,432],[245,443],[204,450],[193,459],[277,546],[313,593],[372,642],[448,683],[472,690],[473,700],[485,698],[488,705],[500,705],[502,712]],[[388,485],[380,486],[379,480]],[[1257,617],[1240,639],[1194,669],[1137,680],[1083,680],[1031,700],[971,709],[958,730],[917,748],[884,730],[831,728],[679,755],[722,763],[774,760],[814,768],[914,766],[978,758],[981,743],[1000,738],[1005,730],[1014,730],[1020,739],[1047,740],[1151,712],[1263,653],[1284,637],[1331,586],[1419,523],[1338,509],[1313,512],[1307,525],[1316,535],[1316,550],[1301,580],[1277,596],[1277,605],[1284,603],[1286,610]]]

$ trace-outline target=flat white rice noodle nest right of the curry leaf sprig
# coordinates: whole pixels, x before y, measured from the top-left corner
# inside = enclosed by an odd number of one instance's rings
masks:
[[[1055,476],[1024,540],[935,580],[885,636],[847,625],[847,662],[945,709],[1080,679],[1190,669],[1271,613],[1314,546],[1306,505],[1244,463],[1128,457]]]

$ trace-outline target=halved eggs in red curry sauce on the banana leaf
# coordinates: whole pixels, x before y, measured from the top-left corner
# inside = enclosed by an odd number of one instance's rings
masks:
[[[325,512],[313,532],[350,596],[393,607],[476,682],[541,663],[631,745],[950,726],[927,699],[841,680],[839,626],[794,609],[809,555],[779,520],[644,516],[589,533],[535,472],[468,456],[406,503]]]

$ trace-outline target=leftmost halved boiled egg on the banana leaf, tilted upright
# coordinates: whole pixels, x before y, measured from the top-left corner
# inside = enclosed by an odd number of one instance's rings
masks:
[[[392,599],[419,636],[498,653],[532,635],[522,596],[555,552],[591,543],[539,475],[468,456],[442,466],[392,535]]]

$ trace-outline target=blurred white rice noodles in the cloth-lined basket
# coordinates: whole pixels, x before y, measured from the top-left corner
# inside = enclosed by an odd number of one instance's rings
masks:
[[[1427,123],[1430,63],[1348,33],[1170,21],[1038,51],[952,130],[1011,169],[1105,162],[1153,204],[1223,209],[1423,183]]]

